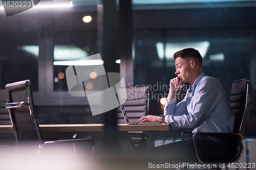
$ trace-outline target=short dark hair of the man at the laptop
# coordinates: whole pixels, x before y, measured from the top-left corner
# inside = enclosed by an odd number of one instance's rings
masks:
[[[195,48],[184,48],[183,50],[176,52],[174,54],[174,59],[176,60],[178,57],[181,57],[186,61],[194,59],[199,67],[202,68],[202,56],[197,50],[195,50]]]

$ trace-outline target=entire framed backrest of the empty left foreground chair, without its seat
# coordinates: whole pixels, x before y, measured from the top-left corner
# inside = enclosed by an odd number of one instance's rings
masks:
[[[17,144],[41,142],[39,126],[36,122],[32,87],[30,80],[15,82],[5,86],[11,122]]]

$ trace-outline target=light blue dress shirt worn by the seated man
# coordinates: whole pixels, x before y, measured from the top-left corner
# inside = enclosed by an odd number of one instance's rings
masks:
[[[187,90],[184,100],[166,101],[165,120],[173,129],[196,132],[233,132],[234,114],[221,83],[203,72]]]

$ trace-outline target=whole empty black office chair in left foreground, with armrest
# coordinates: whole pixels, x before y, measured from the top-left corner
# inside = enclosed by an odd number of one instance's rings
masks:
[[[7,84],[5,88],[8,91],[6,108],[9,109],[18,149],[22,149],[24,146],[27,147],[29,144],[31,150],[35,150],[37,153],[44,153],[47,145],[50,145],[50,148],[53,145],[61,148],[62,144],[71,143],[71,145],[73,144],[74,155],[77,156],[79,154],[77,154],[76,143],[90,142],[90,155],[93,154],[95,143],[91,139],[42,139],[35,116],[30,80]]]

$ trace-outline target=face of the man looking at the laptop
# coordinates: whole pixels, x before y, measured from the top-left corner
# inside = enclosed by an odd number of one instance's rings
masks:
[[[182,80],[182,82],[189,82],[189,75],[192,71],[190,62],[183,60],[181,57],[178,57],[175,60],[175,68],[175,74]]]

